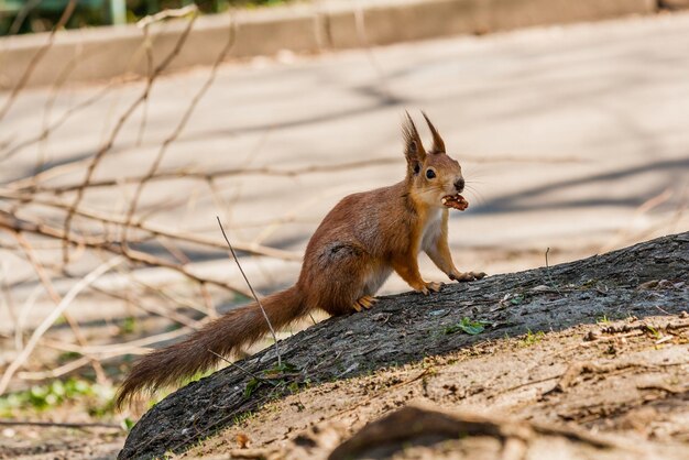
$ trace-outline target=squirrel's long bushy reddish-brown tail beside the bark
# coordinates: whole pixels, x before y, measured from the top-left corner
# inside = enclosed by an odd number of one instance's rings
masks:
[[[296,286],[265,297],[261,305],[275,329],[306,314]],[[127,405],[139,392],[155,392],[211,369],[220,358],[209,350],[229,355],[269,331],[270,327],[256,303],[228,311],[186,340],[153,351],[136,362],[118,392],[116,406],[121,408]]]

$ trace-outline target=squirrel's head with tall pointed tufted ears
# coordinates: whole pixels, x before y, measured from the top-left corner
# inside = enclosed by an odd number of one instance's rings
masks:
[[[406,113],[402,125],[404,154],[407,160],[407,184],[415,199],[433,207],[442,207],[442,197],[464,189],[462,169],[457,160],[445,152],[445,142],[426,113],[422,112],[433,134],[433,147],[426,151],[416,125]]]

